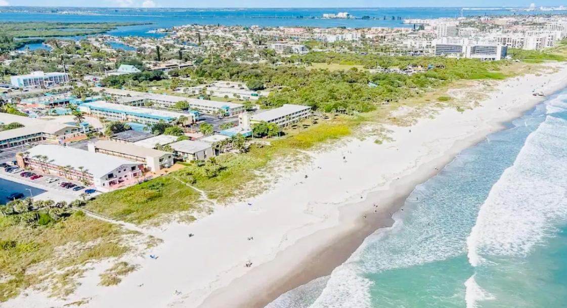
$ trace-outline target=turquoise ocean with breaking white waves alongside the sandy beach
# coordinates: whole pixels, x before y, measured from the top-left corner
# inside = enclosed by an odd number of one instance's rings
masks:
[[[331,275],[266,308],[567,307],[567,90],[418,185]]]

